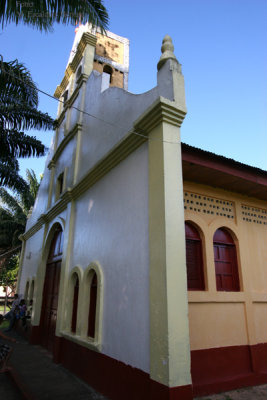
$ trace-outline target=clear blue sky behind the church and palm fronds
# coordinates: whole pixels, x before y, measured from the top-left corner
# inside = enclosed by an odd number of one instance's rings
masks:
[[[156,85],[163,37],[173,39],[182,64],[188,114],[182,141],[267,169],[267,1],[106,0],[109,30],[130,39],[129,91]],[[23,25],[0,30],[0,54],[18,59],[37,86],[53,94],[61,82],[74,27],[41,33]],[[57,102],[40,95],[39,108],[56,117]],[[47,146],[53,132],[32,132]],[[21,163],[37,174],[45,158]]]

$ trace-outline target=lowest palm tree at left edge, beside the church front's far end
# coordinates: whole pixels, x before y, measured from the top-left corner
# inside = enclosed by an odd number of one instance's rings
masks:
[[[5,285],[18,269],[19,235],[25,231],[27,216],[40,185],[34,171],[27,169],[26,173],[24,188],[16,196],[0,188],[0,281]]]

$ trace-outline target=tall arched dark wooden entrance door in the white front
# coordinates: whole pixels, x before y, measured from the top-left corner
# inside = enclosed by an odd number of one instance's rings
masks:
[[[52,240],[43,290],[41,315],[42,345],[53,351],[56,332],[59,281],[62,260],[62,231],[56,231]]]

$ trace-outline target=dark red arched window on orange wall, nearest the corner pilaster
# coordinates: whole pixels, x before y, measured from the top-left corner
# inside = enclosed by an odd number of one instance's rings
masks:
[[[202,242],[197,229],[185,223],[188,290],[205,290]]]

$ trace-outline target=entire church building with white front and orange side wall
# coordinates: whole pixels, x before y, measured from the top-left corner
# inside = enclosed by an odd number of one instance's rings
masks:
[[[129,42],[76,33],[26,232],[29,340],[111,399],[267,381],[267,174],[181,144],[184,79],[127,91]]]

